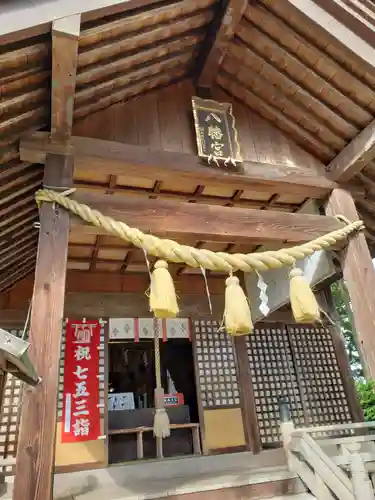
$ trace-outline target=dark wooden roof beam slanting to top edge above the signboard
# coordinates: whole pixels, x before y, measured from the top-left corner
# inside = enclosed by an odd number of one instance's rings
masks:
[[[198,78],[199,87],[212,88],[215,84],[216,75],[225,57],[228,44],[233,38],[236,26],[241,21],[247,5],[248,0],[229,0],[215,40]]]

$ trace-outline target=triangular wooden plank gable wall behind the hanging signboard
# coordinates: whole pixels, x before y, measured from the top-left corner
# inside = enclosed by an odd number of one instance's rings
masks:
[[[128,138],[124,130],[128,130],[127,120],[130,114],[136,116],[138,144],[151,149],[163,149],[163,143],[168,143],[170,128],[162,126],[160,113],[162,110],[163,90],[156,90],[131,102],[115,104],[99,111],[74,126],[73,134],[82,137],[93,137],[123,143],[137,144],[130,134]],[[170,85],[168,87],[168,102],[178,115],[178,128],[183,137],[181,146],[174,142],[168,143],[170,151],[185,152],[196,155],[191,97],[195,90],[190,80]],[[312,172],[324,172],[324,166],[317,159],[299,148],[291,139],[285,137],[277,128],[259,117],[245,104],[236,101],[218,87],[213,88],[212,96],[221,102],[231,102],[234,105],[236,128],[239,133],[242,155],[245,162],[276,163],[279,166],[293,167],[297,173],[299,168],[307,168]],[[147,109],[147,114],[145,114]],[[172,122],[173,127],[176,123]],[[143,128],[151,130],[150,140],[144,134]],[[122,132],[117,136],[117,129]],[[164,137],[165,134],[167,137]],[[117,137],[117,138],[115,138]]]

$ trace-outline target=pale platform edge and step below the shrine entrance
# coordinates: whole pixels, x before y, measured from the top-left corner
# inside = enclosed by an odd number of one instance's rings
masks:
[[[8,486],[7,496],[1,500],[11,499],[12,488]],[[272,450],[259,455],[165,459],[56,474],[54,499],[198,500],[199,496],[199,500],[255,500],[303,491],[300,480],[288,471],[282,450]]]

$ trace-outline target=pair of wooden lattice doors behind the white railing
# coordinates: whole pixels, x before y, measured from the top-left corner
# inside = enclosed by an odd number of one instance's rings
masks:
[[[352,421],[330,328],[265,325],[247,349],[263,447],[280,445],[280,397],[296,427]]]

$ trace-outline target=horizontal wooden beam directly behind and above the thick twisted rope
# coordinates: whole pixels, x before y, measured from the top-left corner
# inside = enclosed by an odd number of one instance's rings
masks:
[[[80,193],[73,198],[104,215],[144,232],[183,240],[253,243],[261,241],[310,241],[343,226],[334,217],[221,207],[169,200],[137,200],[125,196]],[[72,224],[82,224],[74,217]],[[84,223],[87,224],[87,223]],[[85,231],[103,231],[87,225]],[[104,233],[105,234],[105,233]]]

